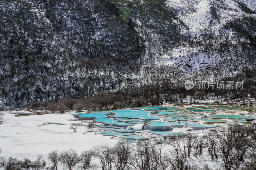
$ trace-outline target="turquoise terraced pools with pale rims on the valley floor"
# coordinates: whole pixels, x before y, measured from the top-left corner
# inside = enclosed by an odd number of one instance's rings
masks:
[[[189,130],[225,124],[246,125],[245,118],[254,118],[247,114],[246,110],[249,109],[255,111],[256,107],[178,104],[173,107],[124,108],[74,115],[81,121],[93,120],[93,126],[100,128],[98,131],[102,135],[143,140],[154,136],[181,135]]]

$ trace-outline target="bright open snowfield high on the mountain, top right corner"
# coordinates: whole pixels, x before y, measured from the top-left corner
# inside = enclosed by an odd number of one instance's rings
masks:
[[[252,11],[246,11],[241,5]],[[198,36],[207,28],[218,33],[230,19],[256,17],[255,0],[167,0],[166,6],[178,11],[178,18],[188,26],[191,36]]]

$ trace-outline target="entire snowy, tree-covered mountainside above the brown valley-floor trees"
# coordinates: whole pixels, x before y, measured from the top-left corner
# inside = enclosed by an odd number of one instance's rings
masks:
[[[251,86],[255,11],[255,0],[1,1],[0,103],[177,91],[185,78]]]

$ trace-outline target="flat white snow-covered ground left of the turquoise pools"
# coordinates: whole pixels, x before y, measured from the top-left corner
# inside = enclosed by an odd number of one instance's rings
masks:
[[[17,117],[15,114],[3,114],[3,124],[0,125],[1,156],[36,158],[41,154],[44,158],[53,150],[60,151],[70,148],[78,153],[89,150],[94,144],[108,143],[114,145],[118,140],[100,134],[87,132],[85,126],[78,126],[73,133],[69,129],[74,116],[66,114],[46,114]],[[61,123],[45,124],[46,122]]]

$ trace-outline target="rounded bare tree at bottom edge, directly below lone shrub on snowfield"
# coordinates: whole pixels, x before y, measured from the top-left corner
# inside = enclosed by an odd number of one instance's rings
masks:
[[[79,158],[76,153],[76,150],[69,149],[68,151],[64,151],[60,154],[60,162],[68,167],[69,170],[72,170],[73,167],[78,163]]]

